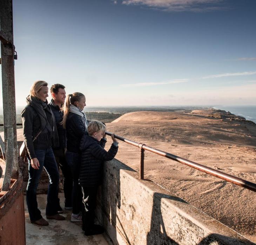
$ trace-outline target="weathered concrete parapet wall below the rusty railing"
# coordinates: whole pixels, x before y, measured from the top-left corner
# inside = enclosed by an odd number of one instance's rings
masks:
[[[105,163],[99,203],[114,244],[254,244],[117,160]]]

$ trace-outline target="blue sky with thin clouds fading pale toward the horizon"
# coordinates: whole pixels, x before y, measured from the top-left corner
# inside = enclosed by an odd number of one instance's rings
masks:
[[[13,0],[16,105],[36,80],[87,106],[256,105],[255,13],[254,0]]]

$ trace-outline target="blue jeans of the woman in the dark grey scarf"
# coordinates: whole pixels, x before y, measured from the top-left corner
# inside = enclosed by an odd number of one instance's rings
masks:
[[[28,162],[28,185],[27,185],[27,206],[31,221],[41,219],[41,212],[36,201],[36,189],[38,187],[43,167],[49,176],[47,193],[46,215],[58,214],[58,192],[59,192],[59,170],[53,154],[52,147],[45,150],[35,150],[36,158],[39,161],[39,169],[31,166]]]

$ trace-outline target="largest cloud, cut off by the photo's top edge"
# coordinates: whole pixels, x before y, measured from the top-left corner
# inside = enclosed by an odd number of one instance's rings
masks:
[[[222,0],[122,0],[125,5],[143,5],[153,9],[170,12],[181,11],[214,11],[223,9]]]

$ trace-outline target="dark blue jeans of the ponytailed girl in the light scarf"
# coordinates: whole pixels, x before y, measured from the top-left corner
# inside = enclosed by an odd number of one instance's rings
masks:
[[[81,155],[76,152],[66,152],[66,161],[71,169],[73,177],[73,190],[72,190],[72,208],[73,214],[79,214],[82,211],[82,189],[79,186],[79,173],[81,165]]]

